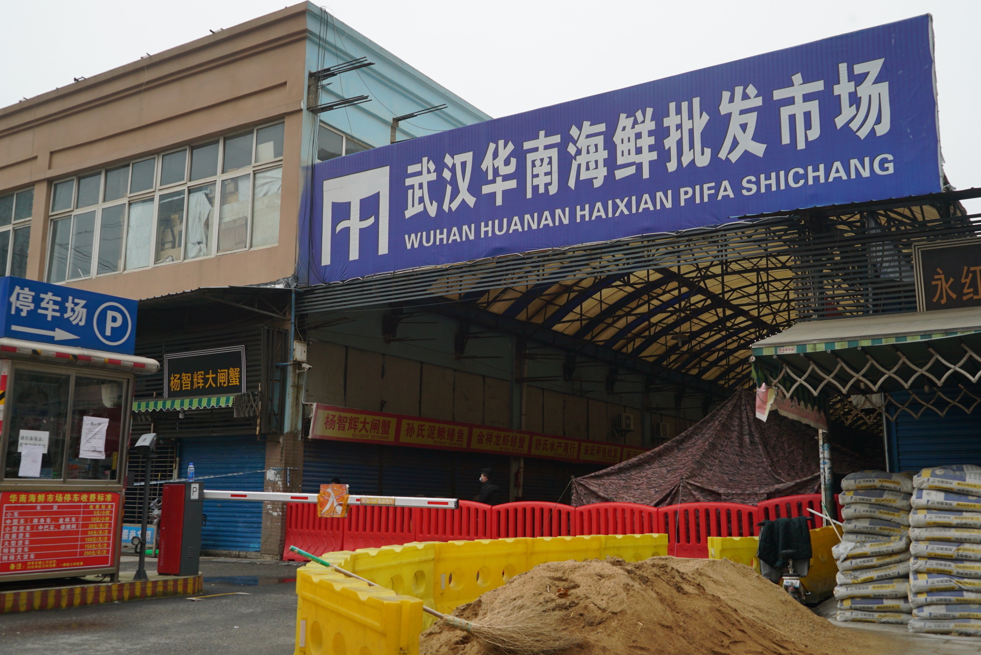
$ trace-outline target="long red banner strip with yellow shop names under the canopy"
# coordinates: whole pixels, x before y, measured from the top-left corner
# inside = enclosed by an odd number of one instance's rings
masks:
[[[647,450],[520,429],[491,428],[321,404],[314,405],[310,438],[467,450],[592,464],[618,464]]]

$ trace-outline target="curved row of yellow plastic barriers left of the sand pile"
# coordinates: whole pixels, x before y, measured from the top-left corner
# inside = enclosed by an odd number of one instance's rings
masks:
[[[443,613],[544,562],[607,556],[639,562],[667,555],[666,534],[593,534],[413,542],[325,553],[322,559],[388,589],[316,563],[297,570],[295,655],[417,655],[432,625],[423,603]],[[400,595],[398,592],[401,592]]]

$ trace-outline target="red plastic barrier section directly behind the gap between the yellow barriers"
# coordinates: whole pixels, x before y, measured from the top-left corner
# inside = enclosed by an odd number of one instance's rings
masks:
[[[706,558],[710,536],[755,536],[759,511],[739,503],[682,503],[660,508],[657,516],[668,555]]]

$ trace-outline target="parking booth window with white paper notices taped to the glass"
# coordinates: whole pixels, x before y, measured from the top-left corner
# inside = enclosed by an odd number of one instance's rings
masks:
[[[21,368],[13,378],[5,478],[118,479],[127,380]]]

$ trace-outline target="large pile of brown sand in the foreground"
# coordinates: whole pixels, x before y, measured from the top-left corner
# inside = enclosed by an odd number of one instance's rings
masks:
[[[493,607],[517,599],[553,613],[563,630],[580,638],[562,655],[880,655],[904,650],[889,637],[832,626],[776,584],[728,560],[551,562],[461,605],[454,615],[479,621]],[[422,633],[419,646],[420,655],[494,655],[469,634],[440,624]]]

